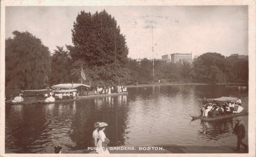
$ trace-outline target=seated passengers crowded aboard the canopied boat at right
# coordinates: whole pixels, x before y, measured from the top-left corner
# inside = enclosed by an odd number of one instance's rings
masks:
[[[232,114],[235,104],[242,106],[241,99],[234,101],[221,102],[221,103],[208,103],[201,108],[201,116],[215,118],[217,115]]]

